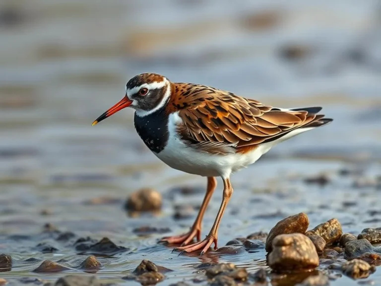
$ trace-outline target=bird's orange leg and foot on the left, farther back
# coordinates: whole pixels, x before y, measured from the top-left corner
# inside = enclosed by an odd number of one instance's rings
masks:
[[[206,193],[204,200],[202,201],[201,208],[197,214],[197,218],[194,221],[191,230],[185,234],[163,237],[160,242],[166,243],[182,243],[182,245],[189,244],[194,237],[197,237],[197,241],[201,239],[201,222],[202,217],[205,214],[206,208],[209,204],[210,198],[213,195],[213,192],[217,186],[217,180],[214,177],[208,177],[208,185],[206,188]]]

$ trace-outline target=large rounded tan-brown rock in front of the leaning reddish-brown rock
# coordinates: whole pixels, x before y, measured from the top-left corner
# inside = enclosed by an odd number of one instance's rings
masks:
[[[301,233],[281,234],[272,242],[268,264],[275,271],[313,269],[319,265],[315,245]]]

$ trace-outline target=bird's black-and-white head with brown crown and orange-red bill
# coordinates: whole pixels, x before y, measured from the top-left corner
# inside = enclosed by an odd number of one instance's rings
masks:
[[[171,82],[155,73],[141,73],[126,84],[126,95],[93,122],[93,125],[113,115],[121,109],[132,107],[140,117],[162,108],[171,94]]]

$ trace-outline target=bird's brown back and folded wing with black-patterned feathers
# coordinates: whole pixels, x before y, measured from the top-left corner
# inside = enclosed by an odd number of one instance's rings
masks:
[[[281,111],[259,101],[208,86],[173,83],[177,91],[168,104],[179,112],[182,139],[211,153],[247,152],[257,144],[321,119],[305,110]]]

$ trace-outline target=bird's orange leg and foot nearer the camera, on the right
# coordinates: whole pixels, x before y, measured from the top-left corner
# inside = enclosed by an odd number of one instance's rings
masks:
[[[232,188],[232,185],[230,184],[230,179],[224,179],[224,194],[222,197],[221,207],[220,207],[220,210],[218,211],[216,220],[214,221],[214,224],[212,226],[212,229],[210,229],[209,234],[206,236],[204,240],[200,242],[193,243],[188,246],[177,247],[175,248],[175,250],[180,250],[181,253],[183,253],[183,252],[192,252],[192,251],[202,249],[201,255],[203,255],[209,249],[212,243],[214,243],[214,249],[217,249],[218,227],[220,225],[222,215],[224,214],[224,211],[226,209],[226,206],[232,194],[233,194],[233,188]]]

